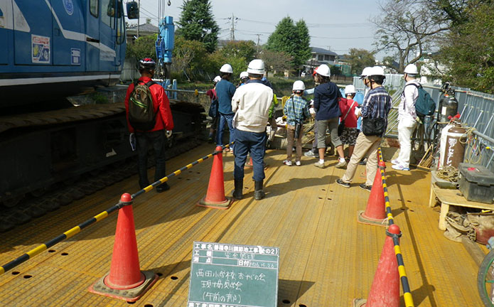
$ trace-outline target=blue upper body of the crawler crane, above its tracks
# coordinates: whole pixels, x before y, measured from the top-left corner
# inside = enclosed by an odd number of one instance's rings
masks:
[[[122,0],[0,0],[0,45],[0,107],[115,84],[126,48]]]

